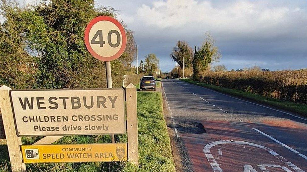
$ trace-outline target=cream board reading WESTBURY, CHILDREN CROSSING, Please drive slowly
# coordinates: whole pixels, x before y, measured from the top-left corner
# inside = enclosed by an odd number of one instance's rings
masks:
[[[10,96],[19,136],[126,131],[123,89],[14,90]]]

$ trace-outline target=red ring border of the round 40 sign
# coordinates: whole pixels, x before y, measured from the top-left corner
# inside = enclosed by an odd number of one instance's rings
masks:
[[[100,21],[109,21],[114,23],[119,29],[120,29],[120,33],[122,35],[122,44],[120,47],[120,50],[115,54],[112,55],[110,57],[103,57],[101,55],[98,55],[91,47],[90,41],[89,41],[89,34],[90,34],[90,30],[92,29],[93,25],[97,22]],[[112,61],[115,60],[117,58],[120,57],[120,55],[122,55],[125,51],[126,48],[126,44],[127,44],[127,37],[126,37],[126,32],[125,29],[123,28],[123,26],[120,24],[120,22],[118,22],[116,19],[109,17],[109,16],[99,16],[96,17],[94,19],[92,19],[90,21],[90,23],[88,23],[86,29],[85,29],[85,34],[84,34],[84,41],[85,41],[85,45],[87,47],[87,50],[98,60],[102,60],[102,61]]]

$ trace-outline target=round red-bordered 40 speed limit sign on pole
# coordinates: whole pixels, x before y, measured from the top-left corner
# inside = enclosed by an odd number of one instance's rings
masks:
[[[116,19],[109,16],[92,19],[85,29],[84,40],[87,50],[102,61],[119,58],[127,43],[125,29]]]

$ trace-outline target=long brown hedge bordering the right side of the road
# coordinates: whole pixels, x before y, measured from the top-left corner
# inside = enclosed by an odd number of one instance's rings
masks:
[[[307,70],[206,72],[194,79],[277,100],[307,104]]]

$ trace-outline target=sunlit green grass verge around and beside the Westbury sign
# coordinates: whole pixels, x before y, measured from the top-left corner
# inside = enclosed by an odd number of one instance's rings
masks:
[[[163,118],[161,92],[137,92],[139,168],[126,162],[43,163],[26,164],[29,171],[175,171],[170,138]],[[38,137],[23,137],[23,144],[32,144]],[[118,142],[127,136],[117,135]],[[111,143],[110,135],[64,136],[55,144]],[[8,150],[0,145],[0,171],[9,171]],[[31,169],[31,170],[30,170]]]

